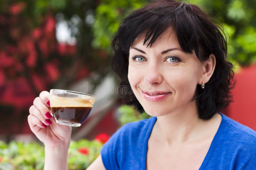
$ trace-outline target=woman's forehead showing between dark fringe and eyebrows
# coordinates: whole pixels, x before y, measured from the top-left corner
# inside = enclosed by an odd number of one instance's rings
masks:
[[[159,35],[159,37],[156,39],[154,44],[152,44],[151,47],[150,45],[148,45],[150,39],[145,43],[145,45],[143,45],[145,36],[146,36],[146,31],[140,34],[136,39],[134,39],[132,46],[144,47],[144,48],[161,48],[161,49],[162,48],[164,49],[167,47],[169,48],[176,47],[181,49],[177,39],[176,32],[171,28],[166,29],[161,35]]]

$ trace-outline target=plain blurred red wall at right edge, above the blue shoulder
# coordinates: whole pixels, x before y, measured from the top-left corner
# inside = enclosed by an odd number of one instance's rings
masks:
[[[242,68],[235,79],[234,102],[225,110],[227,116],[256,131],[256,65]]]

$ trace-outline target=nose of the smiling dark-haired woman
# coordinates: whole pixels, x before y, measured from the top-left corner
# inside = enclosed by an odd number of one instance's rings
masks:
[[[147,74],[144,77],[144,83],[150,85],[157,85],[163,81],[161,70],[154,65],[149,65]]]

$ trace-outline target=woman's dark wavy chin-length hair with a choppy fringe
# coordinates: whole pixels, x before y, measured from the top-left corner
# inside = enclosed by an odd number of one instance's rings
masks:
[[[199,118],[210,119],[231,102],[230,89],[235,85],[234,71],[233,65],[226,60],[227,38],[223,27],[198,6],[161,0],[132,11],[122,20],[112,40],[114,55],[111,67],[119,76],[121,87],[125,86],[128,92],[132,91],[128,81],[128,58],[133,41],[146,33],[143,45],[149,41],[148,46],[151,47],[169,27],[176,32],[179,44],[186,53],[194,51],[201,62],[209,59],[211,53],[216,57],[212,77],[204,89],[197,85],[193,98],[196,100]],[[133,93],[121,92],[120,95],[125,104],[134,105],[140,113],[144,111]]]

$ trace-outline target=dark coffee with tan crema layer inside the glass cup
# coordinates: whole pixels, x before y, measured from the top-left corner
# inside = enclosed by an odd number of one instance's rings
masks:
[[[82,98],[50,97],[50,105],[55,120],[60,124],[80,126],[89,116],[93,101]]]

